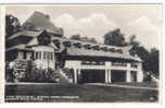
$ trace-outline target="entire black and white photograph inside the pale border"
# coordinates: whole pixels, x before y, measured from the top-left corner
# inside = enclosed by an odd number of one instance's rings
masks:
[[[162,4],[5,5],[5,103],[158,103]]]

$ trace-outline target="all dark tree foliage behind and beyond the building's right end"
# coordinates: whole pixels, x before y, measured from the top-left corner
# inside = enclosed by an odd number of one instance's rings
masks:
[[[119,28],[116,28],[104,35],[104,44],[111,46],[132,46],[130,55],[138,55],[143,61],[143,70],[158,76],[158,50],[156,48],[148,50],[144,46],[140,45],[136,35],[131,35],[129,41],[125,41],[125,35]]]

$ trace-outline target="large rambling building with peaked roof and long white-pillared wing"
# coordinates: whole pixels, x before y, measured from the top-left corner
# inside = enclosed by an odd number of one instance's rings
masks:
[[[142,82],[142,61],[131,46],[115,47],[63,37],[50,17],[35,12],[22,31],[7,39],[7,61],[34,60],[37,68],[59,70],[68,82]],[[61,67],[58,67],[61,63]],[[72,69],[69,77],[62,69]]]

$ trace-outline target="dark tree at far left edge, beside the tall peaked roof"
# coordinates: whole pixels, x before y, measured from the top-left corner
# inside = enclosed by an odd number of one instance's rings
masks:
[[[12,14],[5,15],[5,38],[17,33],[21,28],[21,24],[17,17]]]

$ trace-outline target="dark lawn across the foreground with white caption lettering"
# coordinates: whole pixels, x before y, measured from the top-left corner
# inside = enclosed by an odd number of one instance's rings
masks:
[[[7,100],[10,96],[21,96],[16,98],[22,99],[14,101],[155,103],[157,94],[154,89],[86,84],[5,85],[5,101],[11,101]],[[29,99],[30,97],[35,99]]]

